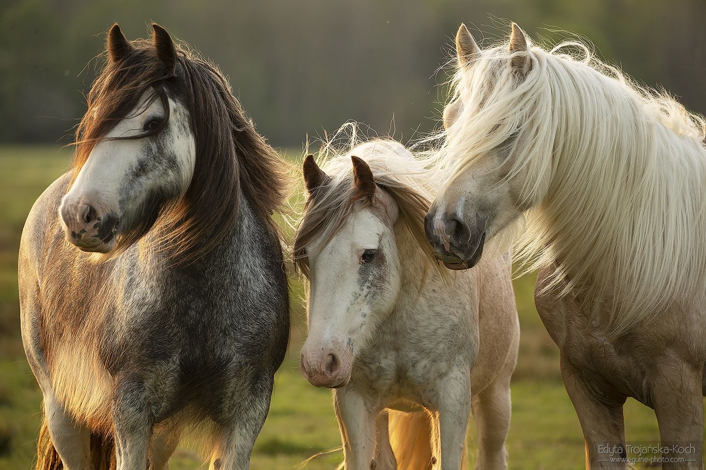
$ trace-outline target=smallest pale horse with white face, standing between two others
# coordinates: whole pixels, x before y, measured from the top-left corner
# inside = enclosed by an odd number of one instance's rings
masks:
[[[471,409],[476,468],[507,468],[519,342],[510,259],[443,276],[424,238],[429,175],[393,140],[333,152],[323,169],[311,154],[304,161],[300,369],[334,389],[348,470],[460,469]]]

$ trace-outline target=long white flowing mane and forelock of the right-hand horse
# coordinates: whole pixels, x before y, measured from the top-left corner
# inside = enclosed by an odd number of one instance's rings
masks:
[[[452,99],[464,108],[437,154],[445,180],[517,135],[507,178],[526,172],[534,204],[517,238],[527,271],[555,264],[553,285],[609,302],[618,333],[703,295],[704,119],[579,42],[530,46],[524,77],[513,55],[495,47],[458,68]]]

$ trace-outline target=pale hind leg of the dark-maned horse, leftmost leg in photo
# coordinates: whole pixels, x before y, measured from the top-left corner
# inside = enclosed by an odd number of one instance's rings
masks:
[[[90,431],[66,414],[52,392],[44,393],[44,416],[56,453],[65,470],[88,470],[90,463]]]

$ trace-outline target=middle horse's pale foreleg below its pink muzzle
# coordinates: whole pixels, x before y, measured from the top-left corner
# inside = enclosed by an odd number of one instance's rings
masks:
[[[378,410],[371,409],[357,392],[345,388],[335,391],[333,405],[341,430],[346,470],[371,469]]]

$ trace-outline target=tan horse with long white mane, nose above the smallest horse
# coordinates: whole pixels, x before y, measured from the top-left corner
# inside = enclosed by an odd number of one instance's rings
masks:
[[[581,42],[547,51],[514,23],[483,50],[461,25],[456,51],[429,243],[469,268],[516,233],[587,468],[630,464],[627,397],[654,409],[663,469],[702,468],[705,120]]]

